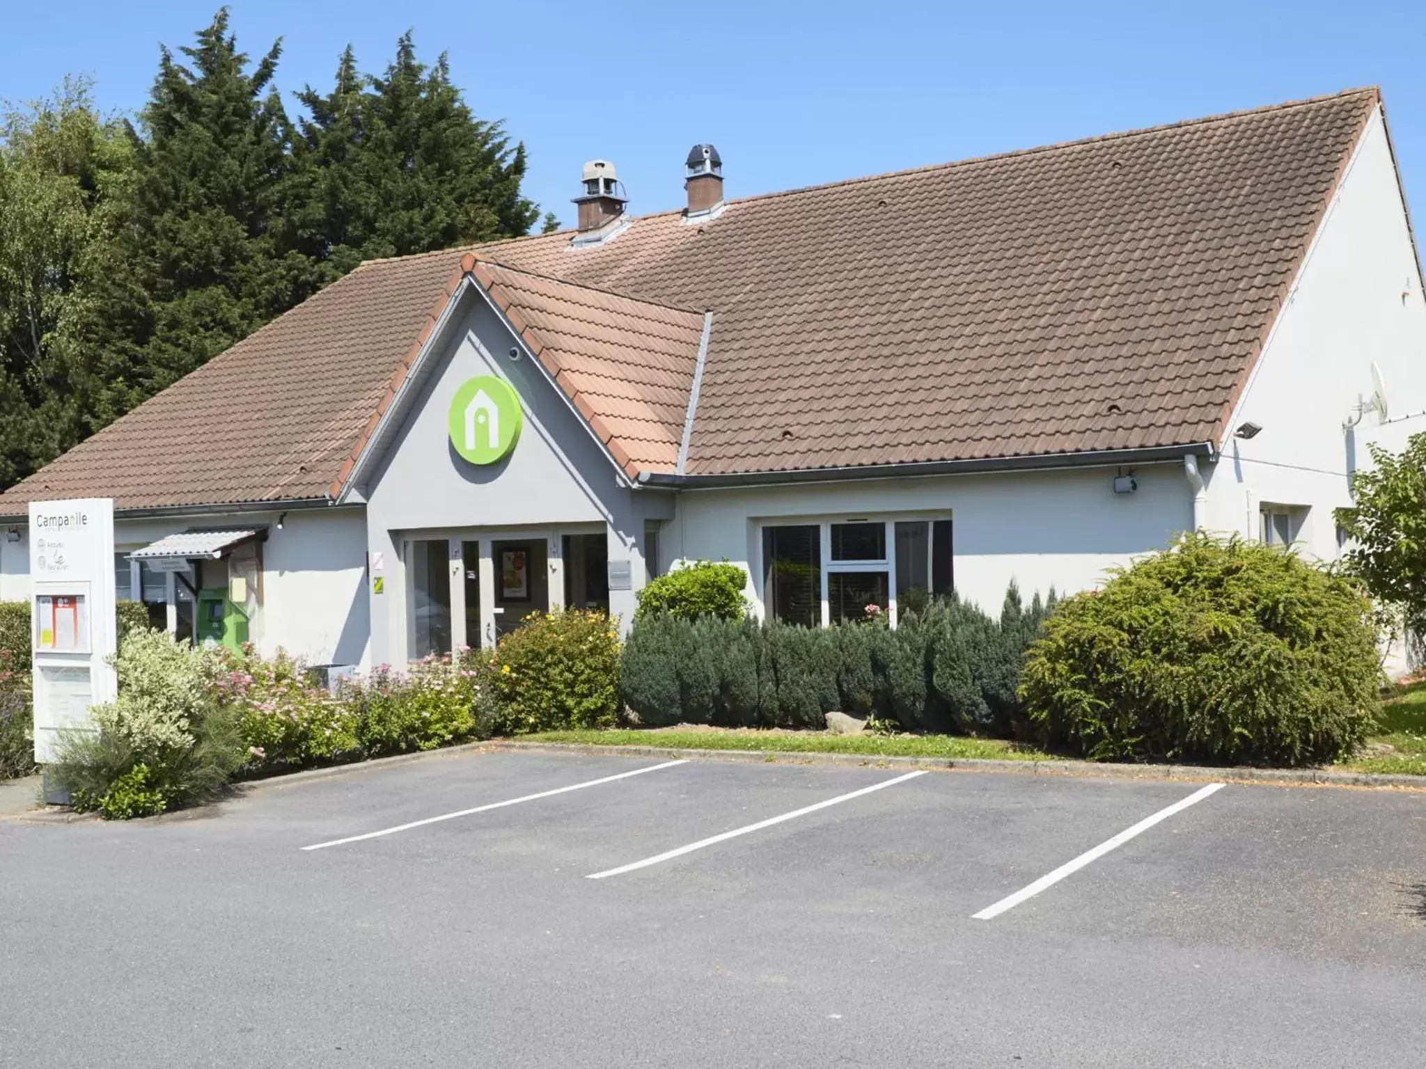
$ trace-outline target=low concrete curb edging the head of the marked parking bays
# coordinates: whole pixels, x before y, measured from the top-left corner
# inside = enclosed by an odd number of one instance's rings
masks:
[[[615,754],[663,757],[686,761],[743,764],[819,764],[876,768],[931,768],[964,773],[1014,773],[1018,775],[1098,777],[1102,780],[1189,780],[1198,783],[1258,783],[1299,787],[1395,787],[1426,791],[1426,777],[1346,773],[1333,768],[1206,768],[1179,764],[1099,764],[1098,761],[1001,761],[990,757],[881,757],[877,754],[824,754],[786,750],[682,750],[662,745],[600,745],[596,743],[522,743],[491,740],[488,751],[556,754]]]

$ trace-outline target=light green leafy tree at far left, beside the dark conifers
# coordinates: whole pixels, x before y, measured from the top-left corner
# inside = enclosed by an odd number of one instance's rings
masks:
[[[81,335],[131,160],[84,78],[0,115],[0,486],[84,430],[98,383]]]

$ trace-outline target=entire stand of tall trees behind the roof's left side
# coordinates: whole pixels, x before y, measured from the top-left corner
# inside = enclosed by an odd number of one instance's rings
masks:
[[[539,222],[525,147],[445,54],[422,64],[408,33],[372,77],[348,47],[295,118],[279,57],[250,60],[221,9],[161,48],[135,121],[84,80],[0,115],[0,487],[362,259]]]

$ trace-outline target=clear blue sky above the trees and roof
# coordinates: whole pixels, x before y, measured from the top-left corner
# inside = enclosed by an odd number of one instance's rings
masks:
[[[147,95],[158,44],[217,3],[0,0],[0,97],[97,80]],[[683,202],[689,147],[713,141],[729,195],[943,162],[1378,84],[1417,231],[1426,227],[1426,3],[1002,4],[934,0],[234,0],[250,56],[282,37],[278,83],[325,90],[349,41],[364,70],[415,30],[476,114],[530,157],[526,190],[566,222],[579,164],[615,161],[632,211]],[[288,97],[289,107],[295,107]]]

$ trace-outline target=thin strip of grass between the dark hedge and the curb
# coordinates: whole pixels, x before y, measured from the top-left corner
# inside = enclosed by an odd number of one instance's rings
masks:
[[[589,745],[657,745],[669,750],[774,750],[784,754],[866,754],[868,757],[991,757],[1010,761],[1055,761],[1030,745],[1000,738],[964,735],[831,735],[821,731],[757,731],[726,728],[679,731],[635,728],[622,731],[545,731],[525,735],[535,743]]]

